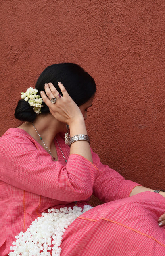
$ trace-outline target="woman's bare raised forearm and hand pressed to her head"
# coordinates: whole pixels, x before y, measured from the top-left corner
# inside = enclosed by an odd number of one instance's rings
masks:
[[[45,92],[41,92],[41,97],[50,109],[50,113],[60,122],[67,123],[70,128],[71,137],[78,134],[87,135],[84,117],[77,104],[71,99],[65,87],[58,82],[63,94],[55,104],[50,99],[57,96],[59,92],[52,83],[46,84]],[[47,96],[46,96],[47,95]],[[79,154],[92,162],[92,154],[88,141],[75,141],[71,144],[70,154]]]

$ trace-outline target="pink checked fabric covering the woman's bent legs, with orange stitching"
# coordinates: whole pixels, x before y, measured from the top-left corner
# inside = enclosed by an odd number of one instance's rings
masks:
[[[96,206],[67,229],[61,256],[163,256],[165,229],[157,219],[164,209],[165,199],[153,192]]]

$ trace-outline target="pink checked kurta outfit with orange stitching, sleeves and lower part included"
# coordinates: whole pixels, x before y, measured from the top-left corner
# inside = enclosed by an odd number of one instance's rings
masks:
[[[56,141],[58,162],[22,129],[11,128],[0,138],[0,256],[8,255],[15,235],[42,212],[75,201],[83,207],[92,193],[106,204],[69,226],[61,255],[165,255],[165,229],[157,223],[165,199],[153,192],[129,197],[137,183],[103,165],[94,152],[93,164],[69,156],[69,146],[56,138],[67,164]]]

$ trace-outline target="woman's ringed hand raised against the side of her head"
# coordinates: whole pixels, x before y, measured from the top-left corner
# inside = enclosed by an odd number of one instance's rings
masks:
[[[63,97],[61,96],[61,98],[57,98],[54,104],[52,104],[50,100],[58,96],[59,92],[52,83],[45,84],[46,94],[43,91],[41,92],[41,97],[45,104],[49,107],[50,113],[58,121],[67,123],[68,125],[79,119],[84,120],[79,107],[69,96],[63,84],[58,82],[58,86],[61,89]]]

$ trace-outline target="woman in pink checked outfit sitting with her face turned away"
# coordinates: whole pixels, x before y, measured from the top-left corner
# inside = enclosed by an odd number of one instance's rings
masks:
[[[95,92],[88,73],[62,63],[22,93],[15,117],[25,123],[0,138],[1,256],[20,232],[19,255],[165,254],[165,192],[125,180],[90,149],[84,120]],[[92,193],[105,204],[85,207]]]

